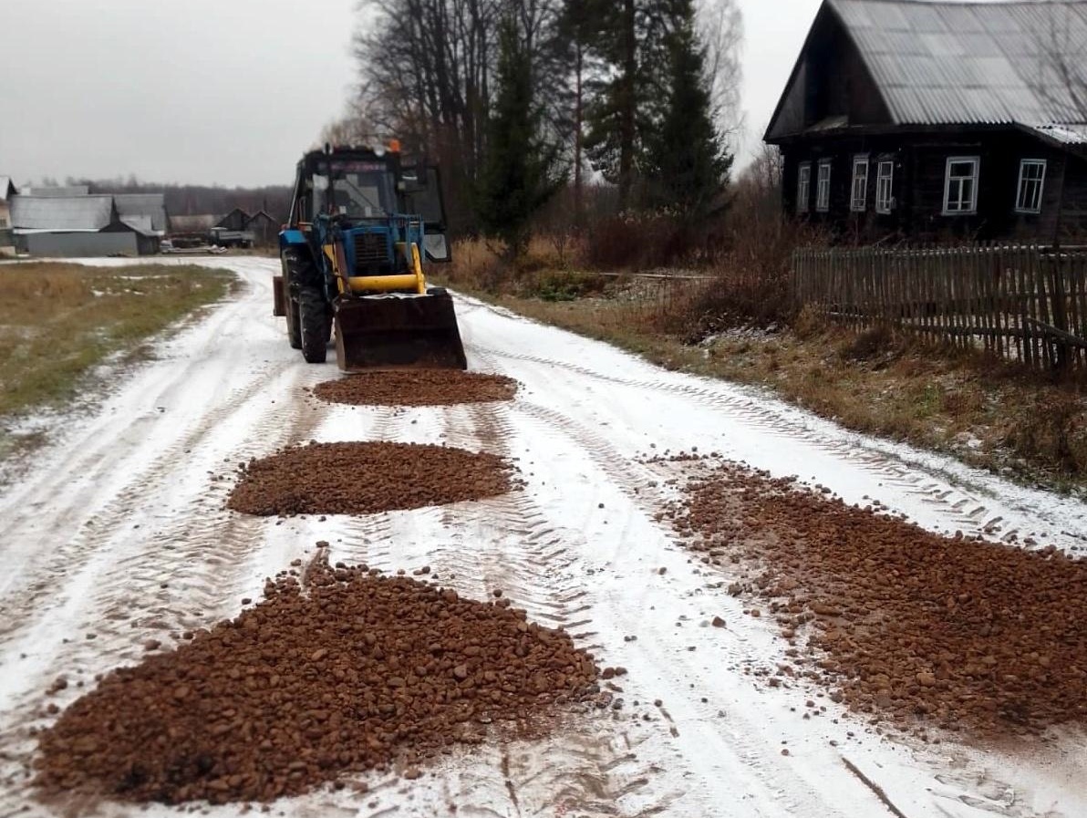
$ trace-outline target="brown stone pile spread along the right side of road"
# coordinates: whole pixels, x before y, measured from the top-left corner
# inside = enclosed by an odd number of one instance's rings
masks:
[[[816,660],[797,663],[836,701],[911,731],[1087,721],[1087,561],[940,537],[735,464],[687,491],[676,529],[707,562],[748,566],[729,591],[809,638]]]

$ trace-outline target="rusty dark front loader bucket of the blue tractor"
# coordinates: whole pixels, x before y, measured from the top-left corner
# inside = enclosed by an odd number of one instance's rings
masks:
[[[341,298],[335,325],[336,363],[343,372],[467,368],[447,292]]]

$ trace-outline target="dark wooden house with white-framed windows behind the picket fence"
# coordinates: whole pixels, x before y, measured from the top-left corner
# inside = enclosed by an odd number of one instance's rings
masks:
[[[824,0],[766,130],[842,240],[1087,243],[1087,1]]]

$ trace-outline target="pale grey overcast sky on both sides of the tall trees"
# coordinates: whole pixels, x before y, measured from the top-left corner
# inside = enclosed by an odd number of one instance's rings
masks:
[[[739,3],[747,153],[820,0]],[[0,175],[288,184],[353,83],[354,8],[0,0]]]

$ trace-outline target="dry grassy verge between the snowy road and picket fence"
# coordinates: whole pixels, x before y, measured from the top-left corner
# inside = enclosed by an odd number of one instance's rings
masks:
[[[555,280],[566,284],[557,288]],[[696,309],[704,285],[611,279],[600,292],[597,281],[545,270],[503,294],[463,277],[451,286],[670,369],[766,388],[857,431],[948,453],[1022,482],[1087,491],[1083,382],[1055,383],[978,354],[886,329],[857,335],[804,315],[773,331],[728,329],[727,323],[708,331]]]

